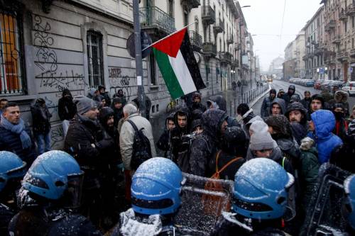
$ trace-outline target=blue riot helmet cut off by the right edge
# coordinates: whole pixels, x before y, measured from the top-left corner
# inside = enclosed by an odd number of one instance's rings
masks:
[[[346,195],[346,220],[355,230],[355,174],[352,174],[344,181],[344,191]]]

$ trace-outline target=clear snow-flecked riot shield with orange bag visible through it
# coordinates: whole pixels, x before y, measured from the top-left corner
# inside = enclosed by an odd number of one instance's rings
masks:
[[[182,203],[174,223],[187,234],[209,235],[222,211],[230,210],[233,181],[183,175]]]

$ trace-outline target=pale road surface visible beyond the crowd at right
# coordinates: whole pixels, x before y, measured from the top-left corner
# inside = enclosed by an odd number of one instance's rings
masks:
[[[280,89],[283,89],[285,91],[285,93],[287,93],[288,91],[288,86],[290,86],[291,84],[288,82],[284,82],[281,80],[276,80],[274,79],[273,82],[270,84],[271,89],[276,89],[276,92],[278,92]],[[296,87],[296,94],[300,94],[301,99],[303,99],[304,93],[305,91],[310,91],[311,96],[313,94],[320,94],[321,91],[317,90],[317,89],[313,89],[313,87],[306,87],[306,86],[300,86],[297,84],[293,84]],[[260,109],[261,109],[261,105],[263,104],[263,99],[266,98],[268,96],[268,94],[266,94],[265,96],[263,96],[263,98],[261,98],[259,101],[257,101],[253,108],[253,111],[256,115],[260,115]],[[351,109],[354,105],[355,105],[355,97],[349,97],[348,99],[349,102],[349,108]]]

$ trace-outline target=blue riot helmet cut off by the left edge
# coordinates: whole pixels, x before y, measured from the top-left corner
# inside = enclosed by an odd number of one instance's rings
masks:
[[[26,174],[26,162],[13,152],[0,152],[0,191],[9,179],[22,178]]]

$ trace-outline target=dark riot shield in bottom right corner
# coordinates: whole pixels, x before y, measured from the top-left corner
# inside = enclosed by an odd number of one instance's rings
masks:
[[[317,191],[313,193],[303,225],[303,235],[346,235],[344,180],[350,173],[325,163],[320,167]]]

